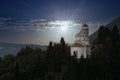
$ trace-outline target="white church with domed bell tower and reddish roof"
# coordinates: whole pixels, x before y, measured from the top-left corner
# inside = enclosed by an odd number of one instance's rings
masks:
[[[91,54],[91,45],[89,43],[89,28],[87,24],[83,24],[79,33],[76,34],[76,40],[71,45],[71,56],[76,55],[77,58],[87,58]]]

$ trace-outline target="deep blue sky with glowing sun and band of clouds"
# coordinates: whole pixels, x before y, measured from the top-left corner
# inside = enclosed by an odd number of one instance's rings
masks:
[[[48,45],[120,16],[120,0],[0,0],[0,42]]]

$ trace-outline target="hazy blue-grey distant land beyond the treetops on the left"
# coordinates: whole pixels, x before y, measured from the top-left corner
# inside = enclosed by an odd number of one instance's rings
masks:
[[[33,48],[40,48],[41,50],[47,49],[47,46],[43,46],[43,45],[15,44],[15,43],[0,42],[0,57],[4,57],[7,54],[16,55],[21,48],[24,48],[26,46],[32,46]]]

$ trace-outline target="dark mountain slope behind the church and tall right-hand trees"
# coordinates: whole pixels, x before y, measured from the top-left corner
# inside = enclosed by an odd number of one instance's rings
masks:
[[[114,25],[117,25],[119,31],[120,31],[120,17],[117,17],[115,19],[113,19],[110,23],[108,23],[107,25],[105,25],[105,27],[112,29]],[[90,35],[90,42],[93,42],[94,40],[96,40],[98,37],[98,31],[94,32],[93,34]]]

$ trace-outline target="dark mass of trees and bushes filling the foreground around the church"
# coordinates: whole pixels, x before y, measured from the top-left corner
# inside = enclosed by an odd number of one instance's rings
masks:
[[[26,47],[17,56],[0,59],[0,80],[120,80],[120,35],[117,26],[103,26],[84,59],[70,56],[70,46],[49,43],[47,51]]]

